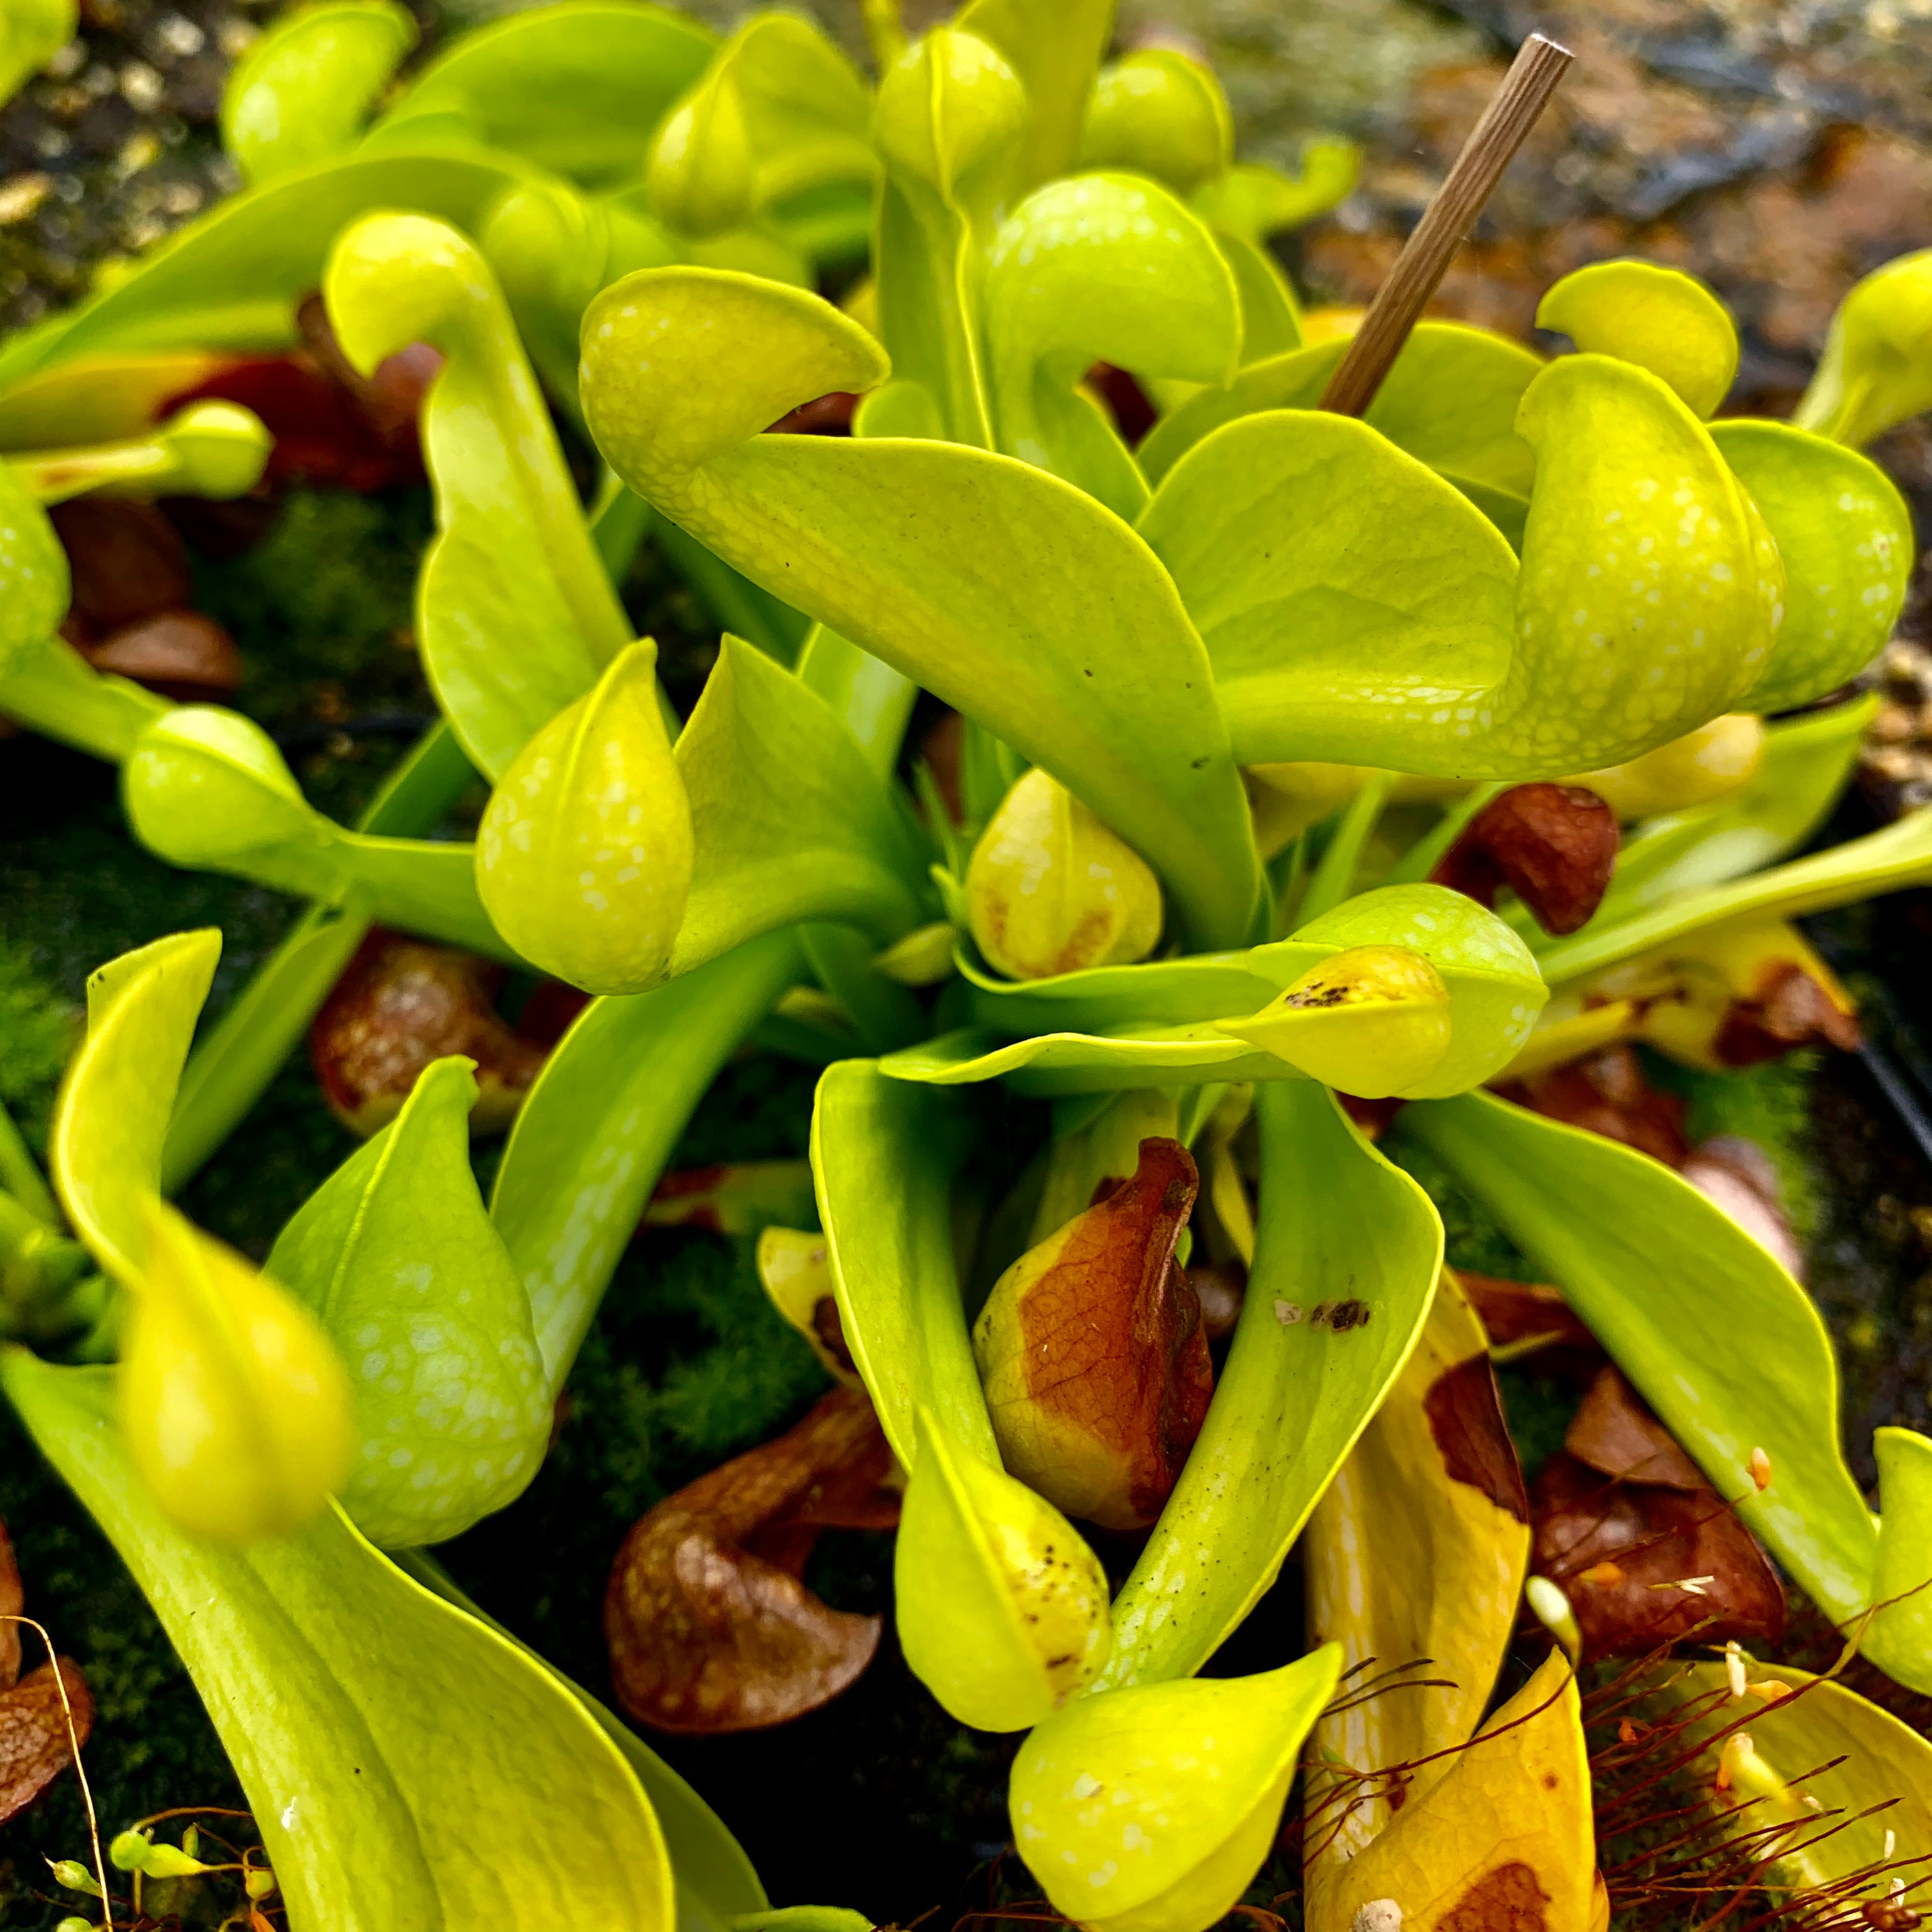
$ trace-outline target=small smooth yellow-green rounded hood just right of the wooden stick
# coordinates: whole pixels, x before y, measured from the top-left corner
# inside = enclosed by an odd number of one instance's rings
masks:
[[[1692,415],[1714,415],[1737,377],[1737,328],[1694,276],[1652,261],[1594,261],[1536,309],[1580,350],[1636,363],[1669,383]]]

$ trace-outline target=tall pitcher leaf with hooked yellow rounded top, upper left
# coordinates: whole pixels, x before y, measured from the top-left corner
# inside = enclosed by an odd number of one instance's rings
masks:
[[[344,354],[371,371],[431,340],[423,404],[437,541],[417,587],[423,668],[471,761],[500,779],[632,641],[489,263],[446,222],[373,214],[323,276]]]

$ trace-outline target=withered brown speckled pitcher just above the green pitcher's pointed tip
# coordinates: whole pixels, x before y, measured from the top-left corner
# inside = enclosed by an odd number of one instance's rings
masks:
[[[417,1074],[448,1053],[477,1063],[471,1126],[508,1126],[543,1066],[491,1001],[502,968],[383,927],[357,947],[309,1028],[309,1055],[336,1119],[357,1134],[394,1121]]]

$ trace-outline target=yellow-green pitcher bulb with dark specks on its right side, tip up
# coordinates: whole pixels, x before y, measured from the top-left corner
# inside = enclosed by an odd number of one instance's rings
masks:
[[[920,1410],[893,1555],[898,1640],[960,1723],[1024,1731],[1107,1662],[1107,1577],[1043,1497]]]

